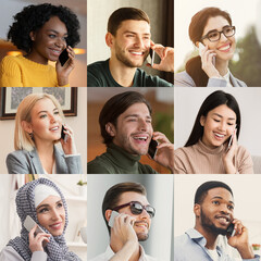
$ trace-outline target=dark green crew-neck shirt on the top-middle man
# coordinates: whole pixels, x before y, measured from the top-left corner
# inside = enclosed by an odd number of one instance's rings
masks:
[[[88,87],[123,87],[112,77],[109,69],[109,59],[95,62],[87,66]],[[173,87],[171,83],[159,76],[148,75],[144,70],[136,69],[133,87]]]

